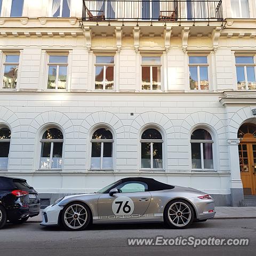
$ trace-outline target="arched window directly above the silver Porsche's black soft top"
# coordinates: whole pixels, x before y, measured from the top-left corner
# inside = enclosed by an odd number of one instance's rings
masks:
[[[156,129],[147,129],[141,135],[141,168],[163,169],[163,139]]]

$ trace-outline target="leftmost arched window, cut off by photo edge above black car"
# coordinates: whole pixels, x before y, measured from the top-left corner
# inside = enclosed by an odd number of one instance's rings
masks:
[[[0,129],[0,169],[8,166],[8,157],[11,142],[11,131],[8,128]]]

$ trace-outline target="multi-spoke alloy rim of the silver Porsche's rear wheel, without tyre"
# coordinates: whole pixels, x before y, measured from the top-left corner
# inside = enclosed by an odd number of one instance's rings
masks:
[[[168,218],[172,225],[185,227],[191,220],[191,210],[187,204],[175,202],[169,207]]]

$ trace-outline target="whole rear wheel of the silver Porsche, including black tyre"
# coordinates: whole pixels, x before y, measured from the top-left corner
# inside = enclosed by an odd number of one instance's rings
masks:
[[[174,199],[173,201],[169,202],[164,209],[164,222],[169,228],[188,228],[193,220],[193,207],[186,200]]]

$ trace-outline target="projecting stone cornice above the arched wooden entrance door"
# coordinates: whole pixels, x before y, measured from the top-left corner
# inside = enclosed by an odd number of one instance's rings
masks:
[[[228,104],[256,105],[256,91],[223,92],[223,97],[220,97],[219,101],[223,106]]]

